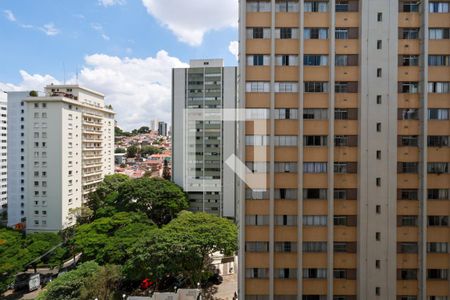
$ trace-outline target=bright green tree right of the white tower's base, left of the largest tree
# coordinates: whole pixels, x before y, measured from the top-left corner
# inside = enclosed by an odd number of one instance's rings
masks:
[[[122,264],[127,249],[153,231],[156,226],[142,213],[116,213],[76,228],[70,241],[85,261],[99,264]]]

